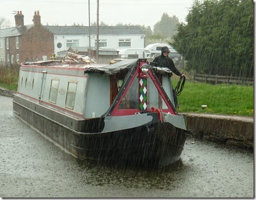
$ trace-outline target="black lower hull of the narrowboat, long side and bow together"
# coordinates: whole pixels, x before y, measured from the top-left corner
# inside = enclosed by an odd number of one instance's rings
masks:
[[[45,116],[46,107],[27,101],[14,97],[14,113],[79,159],[159,169],[179,160],[183,151],[186,131],[167,122],[105,133],[82,133]]]

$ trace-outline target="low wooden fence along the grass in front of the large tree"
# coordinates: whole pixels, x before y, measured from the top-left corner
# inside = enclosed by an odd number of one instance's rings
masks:
[[[219,75],[205,75],[205,74],[194,74],[193,80],[205,83],[227,83],[227,84],[241,84],[241,85],[254,85],[254,78],[243,78],[243,77],[227,77]]]

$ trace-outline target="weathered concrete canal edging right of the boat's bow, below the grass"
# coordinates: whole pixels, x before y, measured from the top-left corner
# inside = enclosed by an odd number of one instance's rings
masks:
[[[194,138],[254,148],[254,118],[212,114],[183,114]]]

